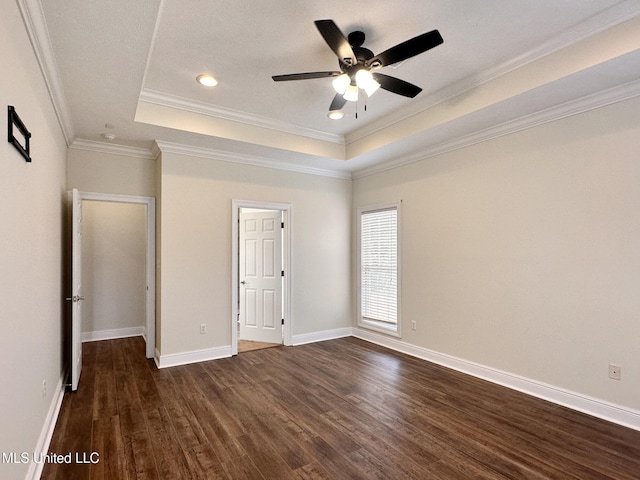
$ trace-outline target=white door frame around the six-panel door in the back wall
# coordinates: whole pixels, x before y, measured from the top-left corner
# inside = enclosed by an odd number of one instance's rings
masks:
[[[231,200],[231,355],[238,354],[238,241],[240,229],[241,208],[258,208],[263,210],[279,210],[283,212],[284,231],[282,235],[282,261],[284,264],[284,282],[282,285],[282,316],[284,318],[283,342],[285,345],[293,345],[293,319],[291,317],[291,277],[292,277],[292,255],[291,255],[291,231],[292,215],[291,204],[257,202],[252,200]]]

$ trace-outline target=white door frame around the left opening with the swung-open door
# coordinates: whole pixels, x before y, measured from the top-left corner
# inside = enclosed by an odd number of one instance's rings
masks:
[[[134,195],[111,193],[78,192],[80,201],[129,203],[145,205],[147,216],[145,339],[147,358],[154,358],[156,349],[156,199]]]

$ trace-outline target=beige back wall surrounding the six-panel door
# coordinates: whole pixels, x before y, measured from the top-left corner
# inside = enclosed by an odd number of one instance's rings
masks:
[[[351,326],[349,180],[175,153],[161,175],[161,355],[231,345],[233,199],[292,205],[294,337]]]

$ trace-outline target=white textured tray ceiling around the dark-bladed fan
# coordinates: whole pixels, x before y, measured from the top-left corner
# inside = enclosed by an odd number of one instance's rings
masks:
[[[40,3],[69,143],[113,133],[127,146],[158,141],[349,172],[640,77],[636,0]],[[374,53],[432,29],[444,44],[382,70],[422,87],[417,97],[380,90],[366,111],[349,103],[332,121],[330,79],[271,79],[337,69],[317,19],[345,35],[364,31]],[[198,85],[205,72],[220,84]]]

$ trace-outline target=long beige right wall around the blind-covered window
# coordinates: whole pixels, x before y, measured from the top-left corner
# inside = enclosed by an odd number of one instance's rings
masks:
[[[636,98],[355,180],[403,202],[402,340],[640,409],[639,152]]]

